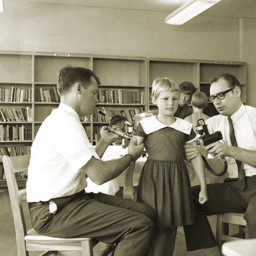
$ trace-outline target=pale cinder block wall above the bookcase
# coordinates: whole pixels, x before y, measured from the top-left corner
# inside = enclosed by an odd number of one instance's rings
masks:
[[[72,1],[70,1],[71,3]],[[239,21],[169,13],[4,1],[0,50],[239,61]]]

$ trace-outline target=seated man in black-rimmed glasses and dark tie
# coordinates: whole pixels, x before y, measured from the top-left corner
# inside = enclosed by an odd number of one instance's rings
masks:
[[[241,92],[234,75],[222,74],[211,80],[209,100],[220,115],[205,123],[210,134],[221,131],[223,141],[211,143],[205,150],[214,158],[226,158],[229,178],[207,185],[209,201],[203,205],[198,203],[199,186],[192,187],[197,215],[194,225],[184,227],[188,251],[205,249],[209,256],[221,255],[206,215],[245,212],[249,238],[256,238],[256,108],[243,104]],[[190,161],[197,150],[185,148],[185,155]],[[238,180],[238,169],[239,180],[245,176],[245,187]]]

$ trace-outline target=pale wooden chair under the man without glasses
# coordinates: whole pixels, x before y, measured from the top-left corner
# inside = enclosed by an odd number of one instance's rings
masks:
[[[22,208],[22,202],[26,201],[26,188],[18,189],[15,173],[27,171],[30,155],[3,156],[3,166],[9,190],[14,227],[17,241],[18,256],[28,256],[29,251],[45,251],[40,256],[57,255],[58,251],[81,251],[82,256],[93,256],[93,238],[55,238],[38,234],[34,229],[27,231]],[[107,256],[113,250],[107,246],[101,256]],[[73,254],[72,254],[73,255]]]

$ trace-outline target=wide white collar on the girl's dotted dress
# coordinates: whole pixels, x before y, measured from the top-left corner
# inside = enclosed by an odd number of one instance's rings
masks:
[[[178,130],[180,132],[186,133],[186,134],[190,134],[191,132],[191,128],[192,128],[192,124],[189,123],[188,121],[185,121],[181,118],[175,117],[176,121],[171,124],[170,126],[167,126],[165,124],[162,124],[161,122],[159,122],[156,118],[156,116],[150,116],[150,117],[146,117],[143,118],[140,123],[143,127],[143,130],[145,131],[146,134],[158,131],[164,127],[172,127],[175,130]]]

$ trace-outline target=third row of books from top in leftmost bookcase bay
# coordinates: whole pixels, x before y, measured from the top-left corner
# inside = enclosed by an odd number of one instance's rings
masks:
[[[0,141],[32,140],[32,127],[25,125],[0,124]]]

